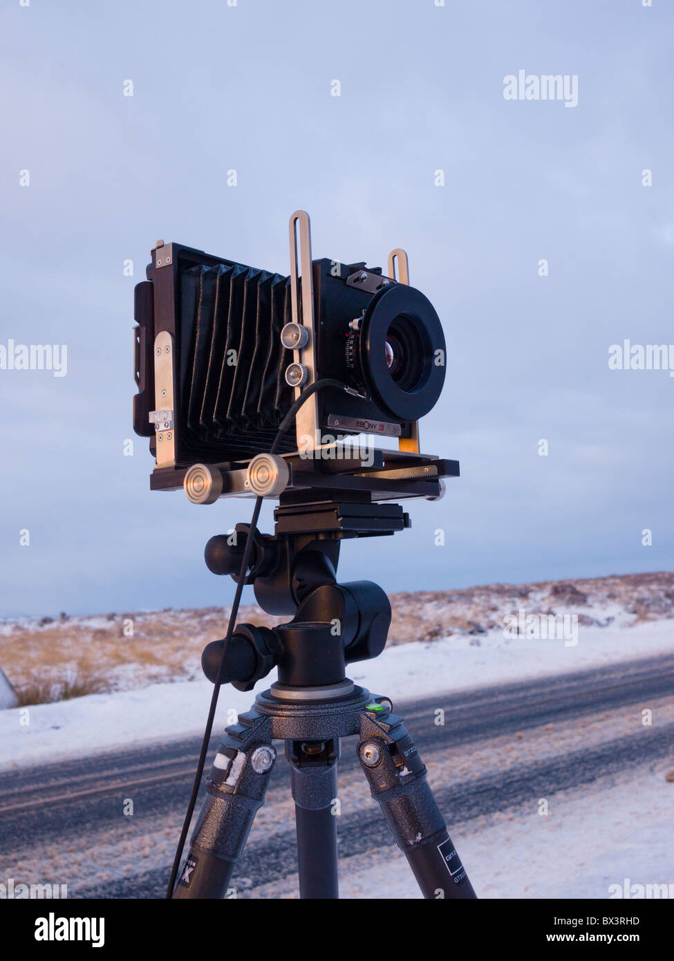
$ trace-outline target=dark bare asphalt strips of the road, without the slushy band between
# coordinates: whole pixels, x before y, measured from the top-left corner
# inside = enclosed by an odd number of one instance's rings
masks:
[[[674,654],[617,664],[554,679],[482,688],[446,697],[415,702],[396,702],[412,731],[426,763],[438,751],[488,742],[496,736],[514,734],[628,705],[648,706],[674,694]],[[443,727],[433,724],[435,711],[445,711]],[[214,752],[218,737],[212,740]],[[342,743],[340,776],[355,771],[355,739]],[[123,799],[133,797],[135,829],[148,832],[169,816],[175,820],[187,805],[200,741],[187,738],[164,746],[133,748],[95,757],[18,769],[0,773],[0,863],[12,876],[14,852],[39,850],[77,842],[87,854],[87,837],[114,838],[125,830],[120,818]],[[644,761],[672,755],[674,725],[643,728],[635,734],[617,736],[600,744],[562,755],[524,760],[508,770],[472,776],[436,791],[437,802],[452,825],[477,816],[502,811],[531,799],[537,793],[578,788],[597,778],[619,774]],[[207,764],[207,771],[210,763]],[[364,779],[363,779],[364,780]],[[267,799],[274,788],[289,792],[288,766],[281,760],[273,772]],[[339,855],[362,853],[391,845],[392,838],[379,809],[372,806],[339,818]],[[177,838],[176,838],[177,839]],[[92,852],[93,856],[93,852]],[[131,875],[106,883],[81,887],[75,897],[161,898],[168,865],[143,871],[140,861]],[[265,834],[246,849],[237,875],[245,875],[253,887],[296,870],[294,833],[281,829]],[[236,876],[234,882],[236,883]],[[69,897],[73,897],[70,894]]]

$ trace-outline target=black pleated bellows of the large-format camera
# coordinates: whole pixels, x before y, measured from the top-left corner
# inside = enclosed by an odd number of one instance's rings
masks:
[[[289,278],[243,264],[203,264],[181,275],[180,386],[186,440],[221,443],[220,456],[266,451],[293,401]],[[289,437],[282,449],[291,450]]]

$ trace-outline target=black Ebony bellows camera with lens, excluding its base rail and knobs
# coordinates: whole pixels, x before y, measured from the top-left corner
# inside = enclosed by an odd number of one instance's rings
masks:
[[[407,455],[396,466],[409,469],[420,456],[418,420],[442,389],[446,348],[435,309],[406,283],[404,252],[392,252],[388,273],[396,258],[401,279],[364,262],[312,260],[303,211],[290,219],[289,276],[159,241],[135,308],[134,430],[151,437],[152,486],[181,485],[197,463],[241,469],[269,451],[301,390],[325,378],[346,389],[316,391],[279,455],[296,464],[312,452],[318,470],[327,448],[374,434],[396,438],[395,453]],[[360,475],[353,458],[333,459],[346,461],[340,473]],[[235,483],[223,493],[251,491]]]

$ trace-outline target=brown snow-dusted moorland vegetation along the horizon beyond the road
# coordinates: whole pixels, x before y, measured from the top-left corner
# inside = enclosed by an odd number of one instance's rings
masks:
[[[487,584],[456,591],[391,596],[389,644],[479,635],[503,627],[506,614],[562,610],[586,625],[606,626],[674,617],[674,574]],[[206,607],[100,617],[42,618],[7,624],[0,634],[0,667],[22,703],[58,701],[165,680],[201,677],[204,645],[224,633],[229,609]],[[239,610],[238,622],[268,627],[259,607]],[[133,635],[128,631],[133,624]]]

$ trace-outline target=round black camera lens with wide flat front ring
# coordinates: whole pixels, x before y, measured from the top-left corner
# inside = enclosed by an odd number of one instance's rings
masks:
[[[399,420],[418,420],[434,407],[444,363],[444,334],[433,305],[402,283],[378,291],[347,338],[354,383]]]

